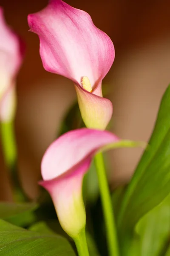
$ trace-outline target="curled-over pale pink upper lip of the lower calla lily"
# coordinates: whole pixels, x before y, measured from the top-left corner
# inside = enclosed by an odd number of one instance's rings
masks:
[[[111,132],[88,128],[63,134],[48,147],[42,158],[43,180],[51,180],[72,172],[75,166],[94,156],[100,148],[118,141],[118,137]]]

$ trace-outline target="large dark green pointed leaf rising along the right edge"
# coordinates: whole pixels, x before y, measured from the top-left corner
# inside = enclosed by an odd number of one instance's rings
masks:
[[[139,219],[170,193],[170,86],[161,101],[156,125],[119,212],[119,231],[133,230]]]

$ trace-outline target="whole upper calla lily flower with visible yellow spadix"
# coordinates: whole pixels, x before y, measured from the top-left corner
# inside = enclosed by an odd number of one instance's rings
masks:
[[[102,97],[101,86],[114,60],[111,39],[88,13],[62,0],[50,0],[45,9],[28,15],[28,24],[39,35],[45,70],[74,82],[85,125],[105,129],[113,106]]]

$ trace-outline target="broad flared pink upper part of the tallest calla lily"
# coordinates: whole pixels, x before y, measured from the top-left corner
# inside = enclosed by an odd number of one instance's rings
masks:
[[[28,24],[39,35],[45,70],[78,84],[87,76],[92,87],[101,86],[113,64],[114,47],[88,13],[62,0],[50,0],[45,9],[28,15]]]

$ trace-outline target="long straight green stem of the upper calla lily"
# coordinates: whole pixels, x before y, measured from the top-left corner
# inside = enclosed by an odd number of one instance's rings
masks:
[[[99,180],[99,189],[103,207],[103,214],[107,232],[108,251],[110,256],[119,256],[118,241],[116,234],[116,225],[113,215],[113,207],[108,187],[107,176],[105,172],[104,160],[102,153],[96,154],[95,165]]]

